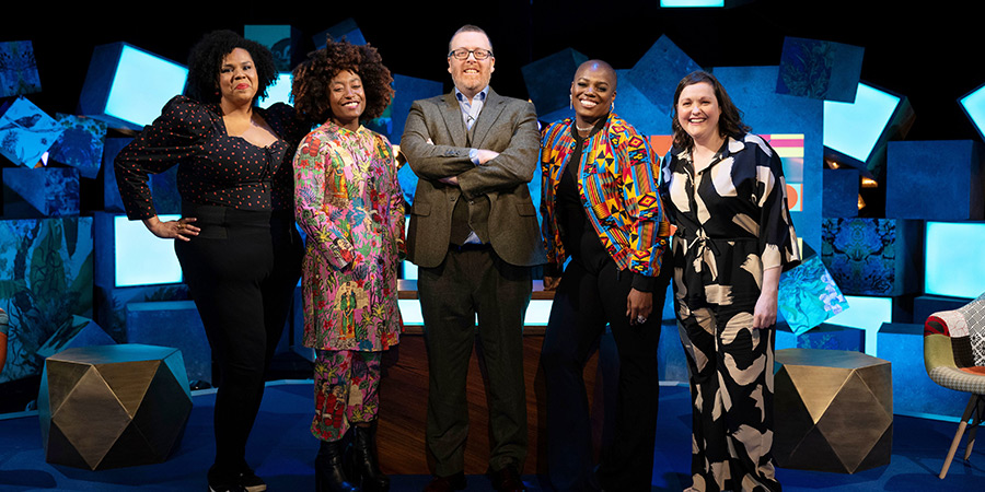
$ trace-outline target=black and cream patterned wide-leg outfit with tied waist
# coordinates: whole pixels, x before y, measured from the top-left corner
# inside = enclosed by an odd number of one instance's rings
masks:
[[[676,225],[674,301],[691,370],[694,488],[780,490],[773,455],[775,329],[754,329],[763,271],[800,253],[783,164],[760,137],[727,138],[695,175],[671,150],[661,196]]]

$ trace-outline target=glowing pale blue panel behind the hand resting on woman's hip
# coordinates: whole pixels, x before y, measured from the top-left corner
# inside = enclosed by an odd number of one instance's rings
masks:
[[[159,215],[161,221],[174,221],[181,215]],[[179,283],[182,267],[174,255],[174,241],[161,239],[141,221],[113,218],[115,246],[114,271],[116,286]]]

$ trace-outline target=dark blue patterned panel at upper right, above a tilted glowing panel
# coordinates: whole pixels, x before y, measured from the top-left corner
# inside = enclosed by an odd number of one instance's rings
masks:
[[[851,103],[865,48],[801,37],[784,39],[776,92],[812,99]]]

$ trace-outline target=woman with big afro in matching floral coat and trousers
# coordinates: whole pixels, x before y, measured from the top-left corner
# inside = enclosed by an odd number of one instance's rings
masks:
[[[376,49],[331,38],[294,69],[302,119],[322,124],[294,156],[294,207],[308,234],[302,263],[304,344],[316,350],[318,491],[386,491],[375,456],[382,351],[399,341],[397,268],[403,194],[385,137],[361,125],[380,116],[393,79]],[[354,453],[343,466],[341,440]]]

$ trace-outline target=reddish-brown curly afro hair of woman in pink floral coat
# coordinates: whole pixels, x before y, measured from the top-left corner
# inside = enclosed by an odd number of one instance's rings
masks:
[[[328,91],[332,78],[349,70],[362,79],[366,93],[366,110],[359,117],[367,121],[379,117],[393,98],[393,77],[383,65],[376,48],[370,45],[352,45],[345,38],[336,42],[328,37],[327,45],[308,55],[308,60],[294,68],[294,109],[298,116],[312,125],[321,125],[332,118]]]

